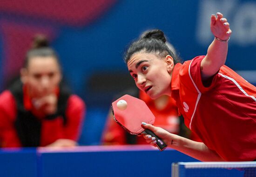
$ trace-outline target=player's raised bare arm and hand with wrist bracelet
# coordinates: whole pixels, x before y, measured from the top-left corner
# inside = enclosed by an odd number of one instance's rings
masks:
[[[209,45],[207,55],[201,62],[202,80],[207,80],[215,75],[220,67],[226,62],[228,53],[228,40],[231,30],[227,19],[221,13],[211,16],[211,32],[215,36]]]

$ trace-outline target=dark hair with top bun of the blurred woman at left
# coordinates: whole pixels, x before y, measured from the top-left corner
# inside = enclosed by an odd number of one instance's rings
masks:
[[[46,36],[38,34],[34,37],[31,49],[27,51],[24,68],[27,68],[30,58],[32,57],[54,57],[60,66],[57,53],[49,46]]]

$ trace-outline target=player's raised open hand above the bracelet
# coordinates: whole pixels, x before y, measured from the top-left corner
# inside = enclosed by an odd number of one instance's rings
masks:
[[[230,30],[229,22],[226,18],[223,18],[222,13],[211,15],[211,32],[216,38],[221,40],[228,40],[232,31]]]

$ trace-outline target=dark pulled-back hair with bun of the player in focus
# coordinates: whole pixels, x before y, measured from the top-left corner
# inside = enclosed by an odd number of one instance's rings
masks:
[[[144,32],[141,37],[129,45],[125,53],[124,61],[127,63],[130,57],[138,52],[155,53],[161,57],[170,55],[174,59],[174,64],[181,63],[180,57],[176,55],[173,46],[167,43],[166,37],[161,30],[149,30]]]

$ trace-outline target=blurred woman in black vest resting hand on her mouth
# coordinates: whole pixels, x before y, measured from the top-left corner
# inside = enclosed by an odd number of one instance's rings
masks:
[[[0,147],[77,145],[85,103],[61,80],[56,52],[38,35],[20,79],[0,94]]]

